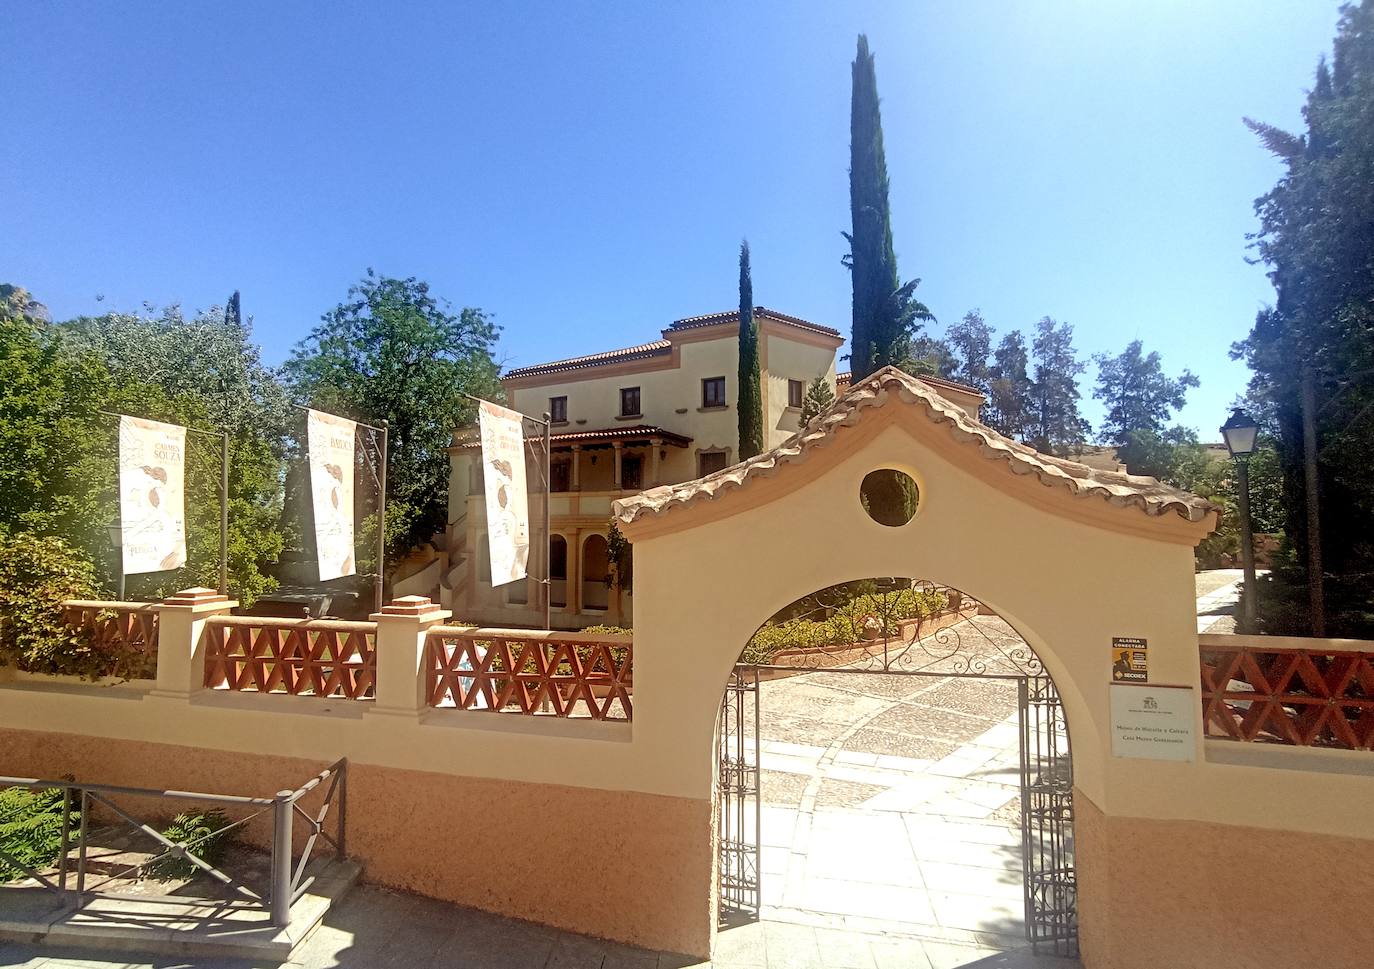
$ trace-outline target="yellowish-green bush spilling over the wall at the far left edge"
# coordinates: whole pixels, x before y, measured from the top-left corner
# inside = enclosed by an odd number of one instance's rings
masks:
[[[56,537],[0,535],[0,665],[98,676],[110,657],[62,619],[63,599],[95,595],[85,558]]]

